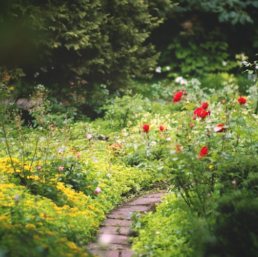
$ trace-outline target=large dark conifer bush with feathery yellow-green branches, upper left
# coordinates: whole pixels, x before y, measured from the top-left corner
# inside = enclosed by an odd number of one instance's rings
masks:
[[[151,76],[159,54],[146,38],[170,7],[169,0],[5,2],[0,66],[22,69],[18,96],[39,83],[59,101],[96,111],[130,77]]]

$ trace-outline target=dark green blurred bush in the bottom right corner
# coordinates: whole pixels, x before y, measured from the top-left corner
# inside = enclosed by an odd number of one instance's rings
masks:
[[[225,195],[218,201],[210,232],[206,229],[193,239],[195,256],[255,256],[257,240],[257,198],[242,191]]]

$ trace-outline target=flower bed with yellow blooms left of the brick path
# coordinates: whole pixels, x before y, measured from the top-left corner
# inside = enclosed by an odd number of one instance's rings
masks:
[[[2,98],[9,89],[4,81]],[[148,188],[152,173],[121,163],[91,124],[52,114],[44,86],[32,101],[29,127],[1,109],[1,254],[88,256],[107,212]]]

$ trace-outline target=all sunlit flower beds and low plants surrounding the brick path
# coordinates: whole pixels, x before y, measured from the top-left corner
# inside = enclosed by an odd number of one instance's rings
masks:
[[[217,90],[183,77],[142,86],[150,88],[145,95],[114,98],[103,106],[104,118],[93,122],[53,111],[42,85],[31,96],[29,126],[14,105],[2,102],[4,256],[90,255],[83,246],[108,211],[155,182],[170,185],[169,194],[155,212],[135,217],[139,256],[223,256],[235,244],[222,233],[230,215],[236,237],[250,230],[236,223],[245,209],[255,222],[257,84],[245,94],[233,78]],[[6,76],[2,99],[11,89]],[[253,227],[245,254],[256,251],[256,236]]]

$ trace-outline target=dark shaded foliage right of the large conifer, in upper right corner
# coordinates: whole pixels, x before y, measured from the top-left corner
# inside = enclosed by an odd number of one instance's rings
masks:
[[[178,72],[203,77],[206,72],[240,73],[237,56],[254,56],[258,44],[254,25],[258,2],[180,0],[177,3],[167,21],[151,36],[151,42],[162,51],[159,65],[164,74],[173,77]],[[240,34],[245,36],[241,38]]]

